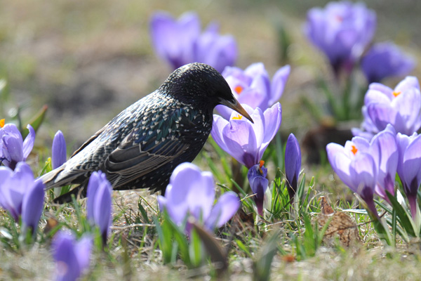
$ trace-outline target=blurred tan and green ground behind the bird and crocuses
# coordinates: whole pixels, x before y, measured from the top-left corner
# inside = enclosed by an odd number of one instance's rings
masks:
[[[281,98],[281,131],[302,138],[314,124],[301,97],[317,99],[316,78],[333,80],[325,56],[302,32],[309,8],[328,1],[164,1],[57,0],[1,1],[0,76],[8,82],[7,110],[22,107],[22,120],[48,105],[36,142],[45,144],[59,129],[74,151],[112,117],[154,91],[171,73],[156,57],[149,19],[163,10],[178,18],[196,11],[202,28],[220,23],[239,47],[236,66],[262,62],[272,77],[291,65]],[[415,58],[411,74],[421,77],[421,2],[366,1],[377,13],[374,41],[394,41]],[[363,77],[357,77],[362,79]],[[386,79],[394,87],[402,77]],[[1,119],[0,118],[0,119]],[[358,124],[357,124],[358,126]]]

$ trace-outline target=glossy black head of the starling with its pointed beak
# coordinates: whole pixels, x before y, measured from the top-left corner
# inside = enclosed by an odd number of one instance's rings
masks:
[[[205,107],[210,112],[216,105],[226,105],[253,123],[250,115],[234,98],[225,78],[210,65],[204,63],[183,65],[170,74],[159,90],[183,103]]]

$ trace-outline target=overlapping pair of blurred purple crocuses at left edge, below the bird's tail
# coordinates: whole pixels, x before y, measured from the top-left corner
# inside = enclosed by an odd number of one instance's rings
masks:
[[[19,162],[15,171],[0,167],[0,205],[9,211],[15,221],[22,216],[24,228],[38,226],[44,207],[44,184],[34,181],[28,164]]]

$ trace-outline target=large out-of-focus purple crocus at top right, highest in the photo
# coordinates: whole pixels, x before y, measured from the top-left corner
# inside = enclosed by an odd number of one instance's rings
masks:
[[[365,4],[340,1],[310,9],[305,33],[325,53],[338,74],[341,69],[352,70],[373,39],[375,27],[375,12]]]

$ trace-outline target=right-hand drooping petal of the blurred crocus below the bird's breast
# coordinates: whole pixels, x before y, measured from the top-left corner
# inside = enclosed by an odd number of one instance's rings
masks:
[[[213,206],[208,218],[206,219],[206,226],[213,230],[215,226],[220,228],[238,211],[241,202],[235,192],[225,192],[218,202]]]

